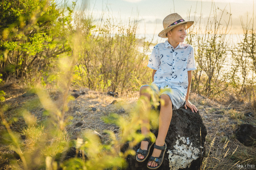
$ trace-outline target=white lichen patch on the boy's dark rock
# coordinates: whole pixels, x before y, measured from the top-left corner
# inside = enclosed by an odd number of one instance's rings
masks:
[[[170,170],[178,170],[179,168],[190,167],[193,160],[200,155],[200,150],[192,147],[189,138],[180,137],[176,140],[176,145],[173,150],[168,150]]]

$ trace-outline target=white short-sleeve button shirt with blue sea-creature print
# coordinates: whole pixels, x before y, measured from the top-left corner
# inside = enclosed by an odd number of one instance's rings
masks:
[[[196,69],[194,49],[182,42],[174,49],[166,40],[154,46],[147,66],[157,70],[152,84],[162,89],[176,88],[186,95],[188,71]]]

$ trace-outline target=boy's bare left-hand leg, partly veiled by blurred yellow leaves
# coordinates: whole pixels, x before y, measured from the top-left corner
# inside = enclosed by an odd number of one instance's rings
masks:
[[[151,95],[147,93],[148,90],[151,90],[150,87],[144,86],[140,89],[140,120],[142,120],[141,124],[141,134],[148,136],[150,131],[149,131],[149,114],[150,114],[150,98]],[[141,141],[141,146],[140,148],[142,150],[147,150],[148,149],[148,142],[147,141]],[[143,159],[144,156],[141,154],[138,154],[139,159]]]

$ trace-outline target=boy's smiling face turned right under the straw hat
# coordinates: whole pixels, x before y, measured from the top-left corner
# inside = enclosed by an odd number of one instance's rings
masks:
[[[170,40],[175,44],[184,42],[184,39],[187,35],[186,27],[182,24],[178,25],[177,27],[174,27],[171,31],[169,31],[167,35],[168,35],[168,40]]]

